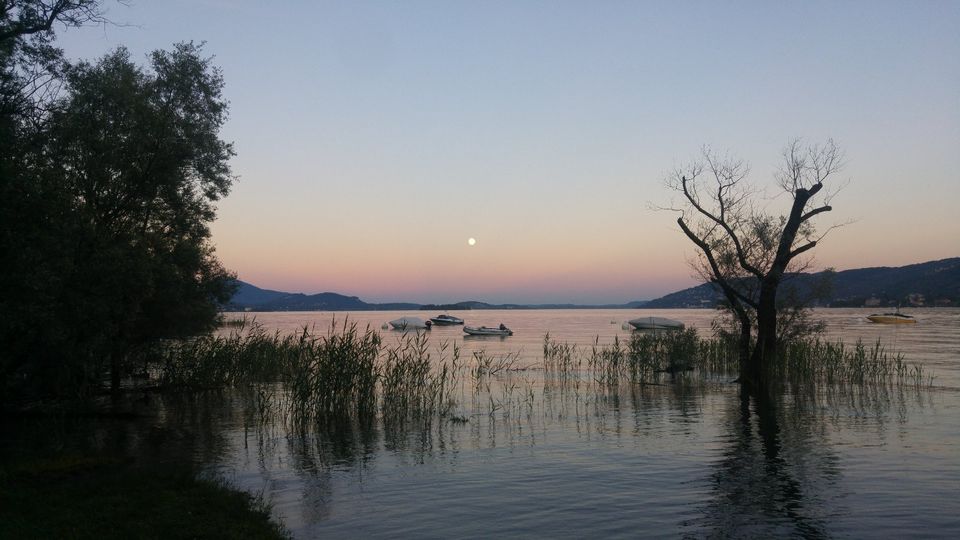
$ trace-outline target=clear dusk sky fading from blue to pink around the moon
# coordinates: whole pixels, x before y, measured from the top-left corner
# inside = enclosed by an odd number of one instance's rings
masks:
[[[222,68],[213,242],[262,288],[656,298],[697,282],[666,176],[708,145],[772,189],[797,137],[846,156],[816,269],[960,256],[960,2],[105,6],[69,57],[193,40]]]

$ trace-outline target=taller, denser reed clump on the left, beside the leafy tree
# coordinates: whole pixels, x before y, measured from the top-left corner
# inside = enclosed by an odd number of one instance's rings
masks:
[[[378,332],[334,320],[325,334],[242,332],[168,343],[154,358],[168,390],[279,383],[298,421],[322,416],[371,416],[384,421],[444,416],[454,407],[460,349],[441,344],[434,358],[427,335],[405,334],[384,346]],[[516,355],[482,357],[478,374],[511,369]],[[261,399],[264,401],[266,398]]]

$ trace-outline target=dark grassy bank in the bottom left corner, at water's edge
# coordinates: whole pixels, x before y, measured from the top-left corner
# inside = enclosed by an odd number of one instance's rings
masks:
[[[288,536],[262,501],[182,465],[71,454],[0,470],[0,538]]]

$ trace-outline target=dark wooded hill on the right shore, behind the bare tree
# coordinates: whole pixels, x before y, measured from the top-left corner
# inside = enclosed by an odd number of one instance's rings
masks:
[[[808,290],[823,273],[792,276]],[[719,288],[706,283],[647,302],[645,308],[714,307],[722,300]],[[960,305],[960,257],[899,267],[858,268],[836,272],[826,305],[853,306]]]

